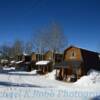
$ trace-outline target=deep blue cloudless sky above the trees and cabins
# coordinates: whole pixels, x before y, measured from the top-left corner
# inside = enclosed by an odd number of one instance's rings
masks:
[[[100,50],[100,0],[0,0],[0,44],[27,41],[53,20],[69,44]]]

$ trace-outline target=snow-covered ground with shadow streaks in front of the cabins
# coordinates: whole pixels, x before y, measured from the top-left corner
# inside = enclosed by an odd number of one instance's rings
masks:
[[[0,73],[0,100],[93,100],[100,96],[99,80],[100,73],[95,71],[75,83],[66,83],[55,80],[55,70],[38,75],[36,70],[4,68]]]

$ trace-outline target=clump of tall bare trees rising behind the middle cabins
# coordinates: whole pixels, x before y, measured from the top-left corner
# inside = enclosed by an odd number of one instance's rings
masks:
[[[41,28],[34,35],[34,48],[39,53],[52,50],[53,53],[63,51],[68,41],[59,23],[51,23],[45,28]]]

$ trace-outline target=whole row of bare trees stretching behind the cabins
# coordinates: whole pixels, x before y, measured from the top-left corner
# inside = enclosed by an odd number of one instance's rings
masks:
[[[27,42],[19,39],[15,40],[12,46],[2,45],[0,51],[3,53],[3,57],[15,57],[22,53],[31,54],[32,51],[40,54],[48,50],[61,52],[68,45],[68,40],[61,24],[55,22],[40,28],[33,33],[32,37]]]

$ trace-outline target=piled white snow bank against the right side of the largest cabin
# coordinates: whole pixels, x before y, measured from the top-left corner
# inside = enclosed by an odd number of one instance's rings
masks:
[[[97,83],[100,84],[100,72],[99,71],[95,71],[95,70],[91,70],[88,73],[87,76],[81,77],[74,84],[89,86],[89,85],[97,84]]]

